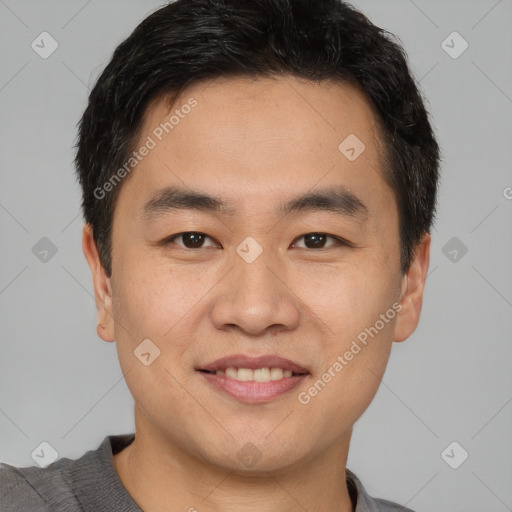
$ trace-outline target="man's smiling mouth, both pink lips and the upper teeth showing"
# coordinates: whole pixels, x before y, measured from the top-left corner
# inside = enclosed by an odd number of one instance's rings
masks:
[[[245,403],[268,402],[311,375],[307,368],[278,356],[228,356],[195,370],[216,390]]]

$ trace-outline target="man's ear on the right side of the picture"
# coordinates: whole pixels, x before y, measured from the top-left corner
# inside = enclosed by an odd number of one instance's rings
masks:
[[[400,305],[395,324],[395,341],[405,341],[416,329],[420,320],[423,290],[430,260],[431,235],[426,233],[416,247],[409,270],[402,277]]]

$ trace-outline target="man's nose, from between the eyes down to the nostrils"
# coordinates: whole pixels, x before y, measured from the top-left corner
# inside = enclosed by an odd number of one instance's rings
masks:
[[[211,319],[217,329],[240,329],[253,336],[295,329],[300,301],[286,276],[284,263],[263,252],[248,263],[238,254],[219,283]]]

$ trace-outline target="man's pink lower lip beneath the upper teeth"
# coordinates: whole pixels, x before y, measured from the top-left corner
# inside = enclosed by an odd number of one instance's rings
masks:
[[[248,404],[269,402],[278,396],[290,392],[308,376],[308,374],[294,375],[292,377],[283,377],[282,379],[268,382],[255,382],[252,380],[242,382],[236,379],[230,379],[225,375],[206,372],[199,373],[217,389],[236,398],[240,402]]]

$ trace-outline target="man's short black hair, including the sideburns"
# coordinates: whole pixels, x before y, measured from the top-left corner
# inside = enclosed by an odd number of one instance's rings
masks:
[[[108,194],[102,186],[130,158],[149,102],[204,79],[284,75],[351,84],[369,101],[399,212],[400,267],[408,270],[434,220],[440,156],[397,38],[342,0],[176,0],[116,48],[78,124],[82,209],[108,276],[122,183]]]

